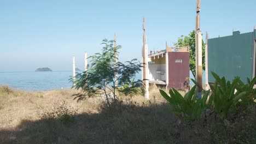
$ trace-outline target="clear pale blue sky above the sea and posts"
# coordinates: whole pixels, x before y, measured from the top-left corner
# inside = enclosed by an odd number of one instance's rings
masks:
[[[0,71],[72,70],[72,56],[83,69],[84,52],[100,52],[102,39],[114,33],[123,46],[119,60],[141,61],[143,17],[149,50],[165,49],[166,40],[173,45],[195,29],[195,5],[196,0],[0,0]],[[252,32],[255,25],[255,0],[201,1],[201,30],[210,38],[231,35],[233,28]]]

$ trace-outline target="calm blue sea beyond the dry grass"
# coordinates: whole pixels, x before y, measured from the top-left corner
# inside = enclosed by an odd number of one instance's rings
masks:
[[[14,89],[24,91],[49,91],[54,89],[67,89],[72,87],[69,79],[72,77],[72,71],[17,71],[0,72],[0,86],[5,85]],[[205,71],[203,71],[203,83],[205,83]],[[141,79],[141,73],[138,73],[135,80]],[[193,75],[190,71],[190,78]],[[190,85],[194,85],[190,81]]]

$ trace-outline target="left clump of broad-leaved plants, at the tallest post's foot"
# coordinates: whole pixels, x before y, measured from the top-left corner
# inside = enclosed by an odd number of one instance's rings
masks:
[[[170,96],[160,89],[161,95],[173,106],[173,112],[177,116],[184,115],[185,118],[199,119],[201,113],[211,105],[206,104],[207,91],[202,98],[196,99],[196,86],[184,95],[184,97],[174,88],[170,89]]]

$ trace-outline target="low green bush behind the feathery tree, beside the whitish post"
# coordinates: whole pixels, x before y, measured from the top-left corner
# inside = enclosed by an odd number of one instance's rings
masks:
[[[136,83],[134,79],[129,83],[127,82],[126,85],[123,85],[118,88],[118,92],[123,93],[124,95],[136,95],[141,94],[142,90],[139,88],[140,83]]]

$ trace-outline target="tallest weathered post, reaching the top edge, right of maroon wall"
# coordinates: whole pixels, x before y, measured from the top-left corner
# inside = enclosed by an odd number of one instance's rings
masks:
[[[197,81],[197,98],[202,95],[202,34],[200,30],[200,8],[201,0],[196,2],[196,81]]]

